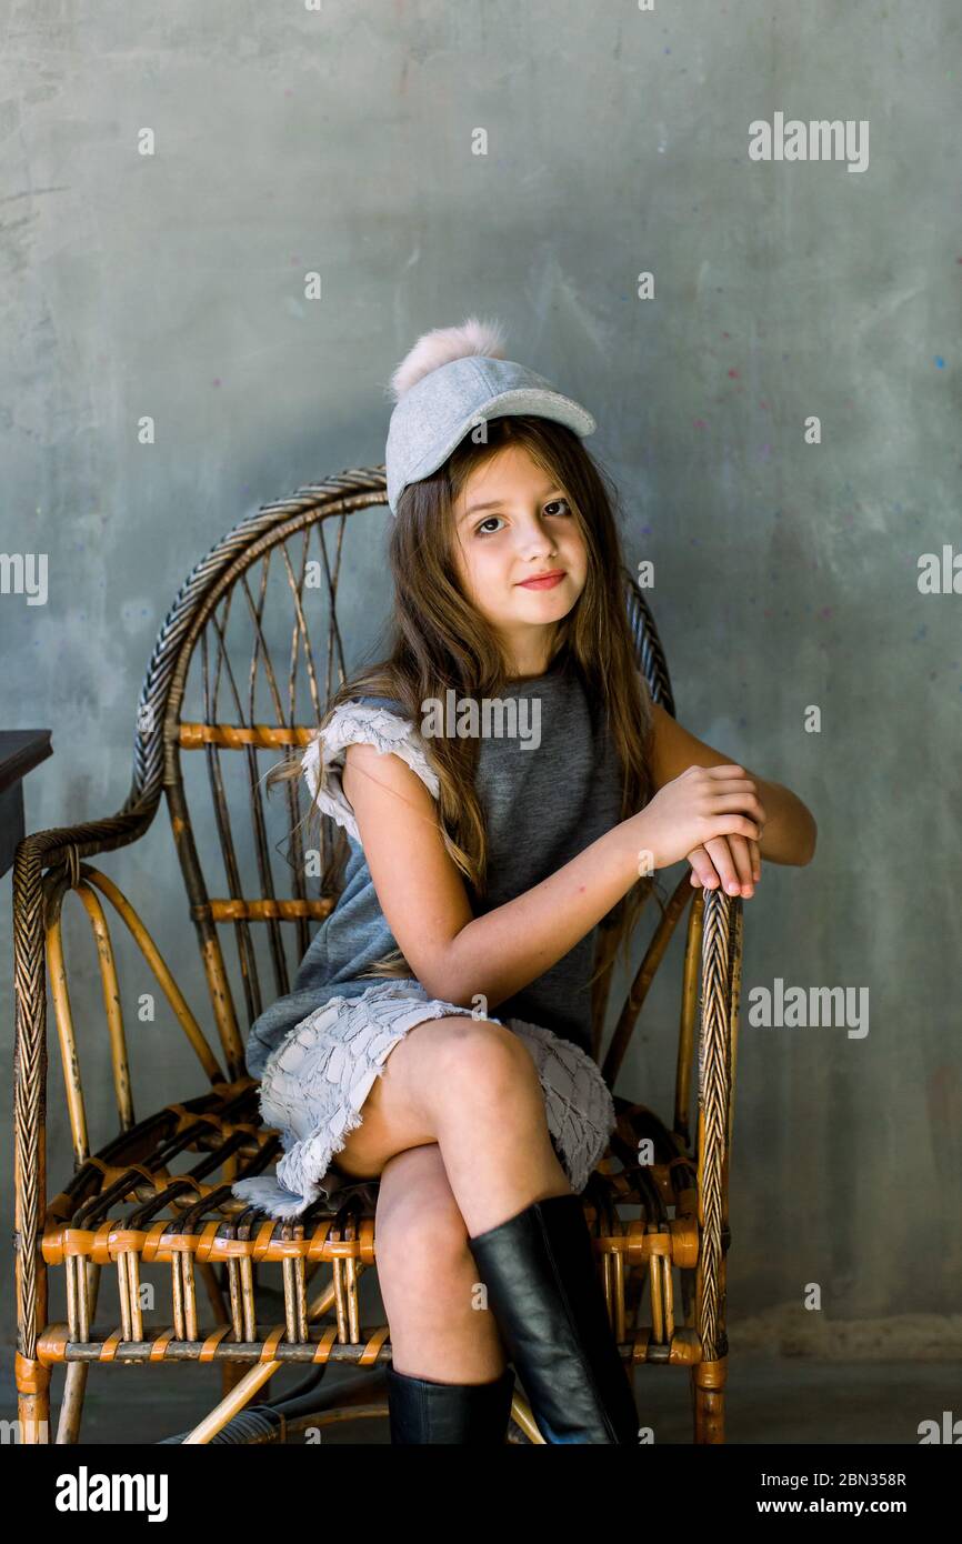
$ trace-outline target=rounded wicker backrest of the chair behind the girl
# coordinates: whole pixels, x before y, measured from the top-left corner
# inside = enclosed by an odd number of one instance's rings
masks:
[[[263,506],[191,571],[144,681],[125,809],[156,801],[162,784],[232,1076],[244,1070],[247,1028],[290,991],[337,900],[344,832],[323,817],[312,852],[298,824],[301,780],[270,800],[261,780],[286,752],[300,753],[355,669],[343,639],[375,658],[391,601],[388,519],[383,468]],[[638,661],[653,699],[673,713],[653,618],[627,570],[624,577]],[[198,818],[202,797],[213,821]],[[224,929],[233,933],[230,963]]]

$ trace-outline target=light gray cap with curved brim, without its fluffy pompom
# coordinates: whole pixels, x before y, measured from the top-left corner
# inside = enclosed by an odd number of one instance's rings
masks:
[[[469,429],[508,414],[554,418],[582,438],[598,428],[585,408],[514,360],[480,354],[451,360],[415,381],[391,414],[384,454],[391,513],[397,516],[408,483],[435,472]]]

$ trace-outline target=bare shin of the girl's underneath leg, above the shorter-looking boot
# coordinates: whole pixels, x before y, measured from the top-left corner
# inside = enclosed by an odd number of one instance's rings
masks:
[[[384,1164],[375,1249],[395,1371],[439,1383],[499,1377],[503,1345],[477,1291],[468,1229],[437,1143],[409,1147]]]

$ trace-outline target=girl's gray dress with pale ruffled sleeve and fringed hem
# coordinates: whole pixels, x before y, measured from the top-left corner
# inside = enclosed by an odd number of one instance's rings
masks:
[[[505,905],[540,883],[621,818],[621,780],[604,712],[588,703],[573,667],[556,661],[542,676],[508,682],[491,718],[471,726],[480,735],[476,787],[488,834],[488,891],[474,916]],[[451,729],[457,704],[445,704]],[[426,724],[426,721],[423,721]],[[351,1181],[335,1153],[363,1118],[363,1102],[391,1050],[415,1024],[445,1014],[468,1016],[463,1004],[429,997],[415,979],[364,977],[374,960],[397,948],[380,908],[347,803],[341,770],[355,741],[395,753],[437,797],[431,733],[418,732],[389,698],[358,696],[341,704],[303,758],[310,794],[320,767],[320,809],[347,832],[351,855],[337,906],[301,960],[293,991],[252,1025],[247,1068],[261,1079],[261,1115],[281,1133],[276,1177],[233,1184],[233,1194],[273,1217],[296,1217],[321,1194],[327,1203],[347,1190],[374,1200],[377,1181]],[[571,1189],[581,1192],[605,1150],[615,1107],[590,1055],[594,956],[593,929],[551,970],[482,1016],[505,1024],[531,1051],[556,1152]]]

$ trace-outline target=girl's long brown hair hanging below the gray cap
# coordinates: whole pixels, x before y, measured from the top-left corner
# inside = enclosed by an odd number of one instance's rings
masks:
[[[493,418],[486,425],[486,442],[476,443],[468,435],[439,471],[405,488],[389,540],[394,579],[389,652],[344,682],[332,696],[320,729],[335,707],[360,695],[397,699],[405,716],[417,724],[425,699],[443,701],[448,689],[454,689],[456,699],[502,693],[510,662],[491,625],[462,591],[454,562],[454,503],[471,472],[510,445],[527,449],[565,491],[585,542],[585,585],[556,627],[550,664],[561,656],[579,672],[593,712],[598,704],[604,707],[605,727],[621,764],[621,818],[625,820],[649,803],[655,787],[652,716],[625,610],[625,570],[615,517],[619,497],[581,438],[551,418]],[[431,766],[440,783],[442,840],[476,897],[485,894],[488,871],[488,840],[474,786],[479,749],[476,736],[437,735],[429,741]],[[300,770],[300,758],[287,758],[270,769],[267,784],[296,777]],[[315,815],[320,820],[317,798],[307,811],[307,817]],[[618,923],[616,945],[625,956],[633,925],[653,891],[655,877],[641,875],[608,914]],[[414,971],[401,951],[394,950],[364,976],[412,977]]]

